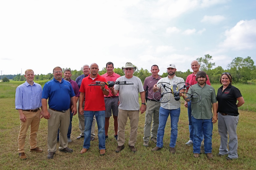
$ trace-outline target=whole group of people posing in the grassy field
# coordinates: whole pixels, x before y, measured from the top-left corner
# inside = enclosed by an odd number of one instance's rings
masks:
[[[184,81],[183,78],[175,75],[177,71],[175,64],[167,65],[168,76],[163,78],[158,75],[159,67],[153,65],[151,67],[152,75],[145,78],[143,85],[139,77],[133,75],[137,68],[130,62],[122,67],[124,76],[113,72],[114,64],[112,62],[106,63],[107,73],[101,76],[98,74],[99,67],[96,63],[92,63],[90,66],[84,65],[84,74],[78,76],[76,81],[71,80],[72,73],[70,69],[65,69],[62,72],[60,67],[55,67],[53,69],[53,79],[45,83],[43,90],[41,85],[33,81],[33,70],[26,70],[26,82],[17,87],[15,94],[15,109],[20,114],[21,125],[18,136],[20,159],[27,159],[24,145],[29,126],[30,151],[43,151],[36,146],[36,133],[42,117],[48,120],[47,158],[52,159],[54,157],[57,151],[57,141],[59,141],[59,151],[73,152],[72,149],[68,148],[68,143],[71,142],[72,117],[76,113],[78,113],[81,132],[77,139],[84,139],[80,154],[87,152],[90,148],[90,141],[95,138],[96,122],[99,153],[100,155],[105,154],[105,141],[109,137],[109,119],[112,114],[114,118],[114,138],[117,140],[116,152],[118,153],[124,149],[125,125],[128,117],[131,127],[128,145],[132,152],[136,152],[139,112],[141,114],[146,112],[143,146],[148,147],[149,141],[153,141],[156,147],[152,151],[163,148],[164,129],[170,115],[169,151],[175,154],[181,100],[177,99],[172,93],[166,93],[164,98],[154,96],[156,92],[163,93],[166,91],[166,84],[177,85],[177,88],[181,89],[179,96],[188,101],[185,100],[184,103],[184,106],[188,108],[190,133],[190,139],[186,145],[193,145],[194,157],[199,157],[202,152],[201,145],[204,145],[206,157],[208,159],[213,158],[212,129],[213,124],[219,119],[218,130],[221,136],[221,144],[218,155],[228,155],[227,160],[237,159],[236,128],[239,118],[238,107],[244,104],[242,94],[236,87],[232,86],[232,76],[225,72],[220,77],[222,86],[218,89],[216,97],[214,88],[210,86],[208,76],[205,72],[199,71],[200,64],[198,61],[192,61],[191,68],[193,73],[187,76],[186,81]],[[114,86],[108,86],[108,81],[117,83]],[[131,83],[127,85],[124,82]],[[184,85],[182,83],[185,82],[192,86],[182,89]],[[187,99],[187,93],[193,92],[201,96],[200,102],[193,103],[193,98]],[[139,94],[141,105],[139,105]],[[192,103],[189,100],[192,100]],[[78,103],[78,109],[76,103]]]

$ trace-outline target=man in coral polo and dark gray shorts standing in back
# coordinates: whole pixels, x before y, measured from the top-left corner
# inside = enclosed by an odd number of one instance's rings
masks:
[[[118,77],[120,77],[119,74],[114,73],[114,64],[113,62],[108,62],[106,64],[107,73],[101,75],[102,77],[106,78],[106,81],[116,81]],[[111,113],[113,113],[114,118],[114,129],[115,129],[115,135],[114,137],[117,140],[117,115],[118,115],[118,104],[119,104],[119,97],[117,93],[116,95],[111,93],[111,90],[109,91],[109,95],[104,95],[105,100],[105,140],[108,139],[108,127],[109,127],[109,119],[111,117]]]

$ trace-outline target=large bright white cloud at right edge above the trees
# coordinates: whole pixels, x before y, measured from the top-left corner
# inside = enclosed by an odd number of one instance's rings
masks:
[[[233,50],[252,49],[256,47],[256,20],[239,21],[233,28],[225,31],[226,39],[220,47]]]

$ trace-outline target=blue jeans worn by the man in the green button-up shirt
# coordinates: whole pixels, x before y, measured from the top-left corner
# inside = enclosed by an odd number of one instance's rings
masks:
[[[193,133],[193,153],[200,154],[202,132],[204,136],[204,153],[212,153],[212,129],[213,123],[211,119],[195,119],[191,117],[194,127]]]

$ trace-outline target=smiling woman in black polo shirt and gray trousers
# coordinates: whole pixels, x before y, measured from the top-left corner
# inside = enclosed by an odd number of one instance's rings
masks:
[[[245,103],[245,100],[239,89],[232,86],[232,76],[230,73],[223,73],[220,78],[222,86],[217,92],[218,101],[218,130],[221,136],[219,156],[228,154],[227,160],[237,159],[237,134],[236,128],[239,119],[238,107]],[[238,101],[238,103],[237,103]],[[227,134],[229,142],[227,149]]]

